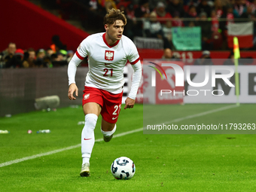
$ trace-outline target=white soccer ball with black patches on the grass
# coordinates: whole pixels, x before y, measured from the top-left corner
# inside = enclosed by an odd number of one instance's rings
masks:
[[[111,172],[114,178],[130,179],[135,173],[133,160],[128,157],[118,157],[111,165]]]

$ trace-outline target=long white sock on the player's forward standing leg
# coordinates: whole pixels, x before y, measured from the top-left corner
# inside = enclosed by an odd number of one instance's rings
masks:
[[[90,154],[93,151],[95,142],[94,129],[98,120],[96,114],[87,114],[84,117],[84,129],[81,134],[81,152],[83,157],[83,164],[89,163]]]

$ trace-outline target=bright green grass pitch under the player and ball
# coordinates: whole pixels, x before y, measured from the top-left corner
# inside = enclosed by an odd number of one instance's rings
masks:
[[[170,105],[175,119],[221,108],[226,105]],[[123,107],[123,106],[122,106]],[[177,124],[256,123],[256,105],[240,105]],[[143,106],[121,110],[118,133],[143,126]],[[157,115],[152,118],[160,120]],[[99,117],[95,137],[102,139]],[[84,114],[79,108],[35,111],[0,118],[0,166],[11,160],[68,148],[81,143]],[[51,130],[37,134],[37,130]],[[27,130],[32,130],[28,134]],[[112,161],[130,157],[136,174],[126,181],[111,175]],[[36,157],[0,167],[0,191],[255,191],[255,135],[171,135],[143,134],[142,131],[96,142],[90,160],[90,178],[81,178],[81,148]]]

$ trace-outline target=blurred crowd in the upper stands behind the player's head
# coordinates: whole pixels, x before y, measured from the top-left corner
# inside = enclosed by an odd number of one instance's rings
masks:
[[[52,1],[52,4],[55,1]],[[59,17],[79,18],[84,29],[104,30],[102,18],[108,9],[119,8],[126,14],[124,35],[161,38],[164,47],[172,46],[172,27],[200,26],[202,50],[228,50],[227,23],[254,21],[256,0],[59,0]],[[79,8],[78,8],[79,7]],[[79,10],[79,11],[78,11]],[[92,24],[93,23],[93,24]],[[254,30],[255,35],[256,30]],[[219,46],[212,41],[220,40]],[[255,49],[253,47],[252,49]]]

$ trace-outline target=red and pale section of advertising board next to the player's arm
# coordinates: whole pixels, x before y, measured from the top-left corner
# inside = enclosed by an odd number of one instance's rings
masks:
[[[161,66],[162,63],[168,63],[164,60],[144,60],[143,77],[139,85],[136,102],[154,103],[154,104],[177,104],[183,103],[182,94],[163,94],[167,92],[182,92],[184,86],[175,87],[175,71],[169,66]],[[176,66],[183,70],[184,63],[174,61]],[[130,68],[130,74],[132,73]],[[130,77],[131,79],[131,77]],[[157,86],[156,86],[157,85]]]

